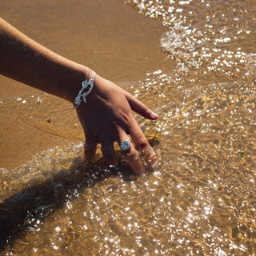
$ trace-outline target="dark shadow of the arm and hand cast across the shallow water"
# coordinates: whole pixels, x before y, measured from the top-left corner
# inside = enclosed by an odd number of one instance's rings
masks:
[[[74,190],[82,191],[110,176],[118,175],[118,172],[126,181],[136,178],[124,162],[111,168],[102,160],[85,165],[81,158],[74,158],[68,169],[6,198],[0,204],[0,253],[29,227],[33,227],[33,221],[39,219],[42,222],[54,210],[62,208],[67,200],[72,200]]]

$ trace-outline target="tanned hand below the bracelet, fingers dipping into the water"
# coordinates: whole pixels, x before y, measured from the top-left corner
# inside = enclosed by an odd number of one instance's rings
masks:
[[[135,121],[132,110],[151,120],[158,118],[157,114],[126,90],[96,75],[94,89],[88,95],[87,102],[82,102],[77,108],[78,118],[86,136],[86,160],[91,160],[100,143],[106,162],[116,165],[114,142],[120,145],[123,140],[129,140],[128,134],[130,134],[134,145],[145,158],[146,165],[153,170],[156,169],[158,166],[156,154]],[[130,150],[123,153],[134,173],[142,175],[146,171],[138,151],[131,144]]]

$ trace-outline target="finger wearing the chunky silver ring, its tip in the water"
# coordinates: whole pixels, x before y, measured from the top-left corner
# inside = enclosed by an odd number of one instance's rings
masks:
[[[118,134],[119,134],[119,139],[118,139],[119,145],[121,145],[122,141],[129,140],[128,135],[121,128],[118,129]],[[135,150],[132,144],[130,144],[129,150],[122,150],[122,152],[125,154],[126,161],[134,171],[134,174],[142,175],[146,173],[146,170],[139,158],[138,151]]]

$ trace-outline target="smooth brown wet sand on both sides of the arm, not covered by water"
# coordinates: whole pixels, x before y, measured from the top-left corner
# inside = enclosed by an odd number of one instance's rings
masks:
[[[10,0],[0,8],[2,18],[30,38],[124,88],[167,65],[159,43],[166,28],[120,0]],[[3,76],[0,84],[0,167],[20,166],[41,150],[82,141],[69,102]]]

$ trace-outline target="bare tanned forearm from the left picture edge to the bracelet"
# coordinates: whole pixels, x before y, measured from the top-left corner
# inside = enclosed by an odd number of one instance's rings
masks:
[[[46,49],[0,18],[0,74],[73,102],[86,67]]]

